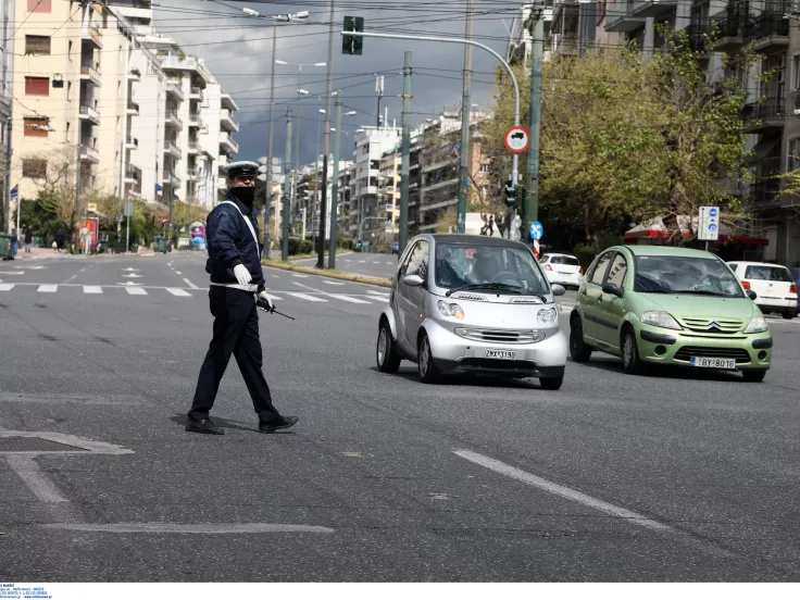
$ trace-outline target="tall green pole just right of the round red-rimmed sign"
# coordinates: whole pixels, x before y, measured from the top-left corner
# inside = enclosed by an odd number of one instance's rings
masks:
[[[534,9],[530,15],[532,57],[530,57],[530,114],[528,121],[528,177],[525,200],[525,224],[529,243],[530,224],[539,220],[539,128],[541,126],[541,60],[545,53],[545,20],[541,9]],[[538,254],[537,254],[538,255]]]

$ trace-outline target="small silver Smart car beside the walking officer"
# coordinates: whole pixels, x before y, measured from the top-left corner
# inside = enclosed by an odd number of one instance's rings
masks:
[[[391,279],[380,315],[377,364],[400,361],[434,383],[441,373],[538,377],[559,389],[566,337],[554,296],[530,249],[487,236],[422,235],[411,240]]]

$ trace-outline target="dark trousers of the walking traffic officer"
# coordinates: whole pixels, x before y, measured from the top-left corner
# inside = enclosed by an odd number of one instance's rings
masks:
[[[279,417],[272,405],[270,387],[261,371],[263,359],[253,295],[241,289],[211,286],[209,303],[214,316],[214,337],[200,368],[189,416],[209,417],[220,389],[220,380],[225,374],[230,354],[234,354],[259,418],[272,421]]]

